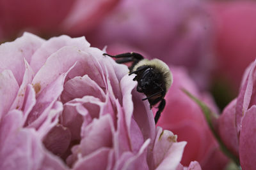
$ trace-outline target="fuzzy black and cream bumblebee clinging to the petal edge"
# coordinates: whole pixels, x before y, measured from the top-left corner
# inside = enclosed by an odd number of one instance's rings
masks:
[[[121,53],[118,55],[103,53],[103,55],[116,58],[116,62],[119,64],[132,62],[132,65],[129,67],[129,75],[136,74],[133,80],[138,81],[137,91],[144,93],[145,96],[147,96],[142,100],[148,100],[150,109],[152,109],[152,106],[159,103],[154,118],[155,123],[157,124],[166,103],[164,96],[171,87],[173,81],[172,73],[167,64],[159,59],[144,59],[140,53],[134,52]]]

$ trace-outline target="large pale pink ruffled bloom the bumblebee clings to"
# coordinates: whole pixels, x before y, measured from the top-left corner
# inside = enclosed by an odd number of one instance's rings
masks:
[[[180,167],[186,142],[156,128],[127,66],[102,53],[28,33],[0,46],[0,169]]]

